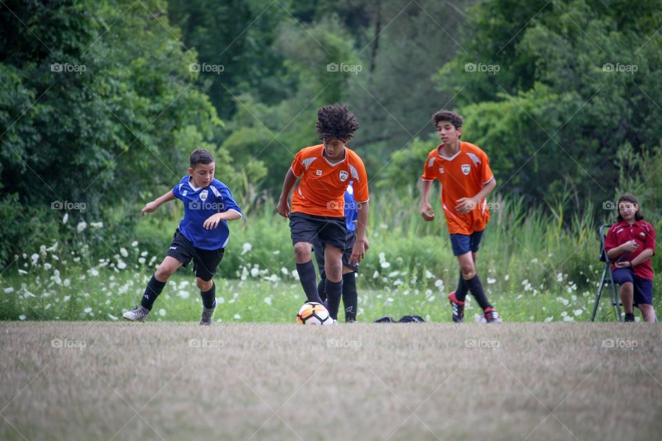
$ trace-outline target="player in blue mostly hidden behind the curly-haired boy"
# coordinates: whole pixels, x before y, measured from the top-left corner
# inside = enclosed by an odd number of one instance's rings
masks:
[[[357,276],[359,272],[359,263],[350,263],[352,256],[352,247],[357,239],[357,222],[359,220],[357,203],[354,201],[353,181],[345,190],[345,223],[347,224],[347,238],[345,240],[345,249],[343,250],[343,307],[345,307],[345,322],[352,323],[357,321],[357,307],[359,295],[357,294]],[[326,301],[326,271],[324,270],[324,244],[319,236],[314,238],[312,247],[317,260],[317,269],[319,270],[319,285],[317,292],[323,302]],[[365,238],[365,251],[368,251],[370,245],[368,238]]]

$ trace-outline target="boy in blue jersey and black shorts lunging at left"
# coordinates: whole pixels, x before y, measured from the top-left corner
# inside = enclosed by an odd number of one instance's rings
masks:
[[[182,265],[193,260],[195,282],[200,289],[203,309],[200,325],[211,325],[216,309],[216,285],[212,277],[221,263],[230,230],[228,220],[241,218],[241,209],[234,202],[230,189],[214,179],[214,156],[196,149],[190,156],[188,176],[170,192],[147,203],[141,214],[151,213],[161,204],[174,201],[184,204],[184,218],[174,232],[168,254],[147,284],[141,305],[124,314],[127,320],[143,322],[168,278]]]

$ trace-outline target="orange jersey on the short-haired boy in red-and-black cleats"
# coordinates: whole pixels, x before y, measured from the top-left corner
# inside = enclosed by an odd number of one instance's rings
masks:
[[[483,231],[490,220],[490,211],[485,199],[475,209],[459,214],[455,209],[460,198],[476,196],[483,185],[492,181],[490,158],[477,145],[461,142],[460,151],[448,158],[441,156],[439,145],[428,155],[423,169],[423,181],[439,179],[441,183],[441,204],[446,216],[450,234],[472,234]]]

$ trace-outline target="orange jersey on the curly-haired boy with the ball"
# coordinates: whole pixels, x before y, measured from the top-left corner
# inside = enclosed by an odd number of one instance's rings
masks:
[[[341,218],[345,216],[345,190],[354,181],[354,200],[368,202],[368,175],[359,155],[345,147],[345,159],[332,165],[322,156],[324,145],[305,147],[294,156],[292,173],[301,176],[292,196],[292,213]]]

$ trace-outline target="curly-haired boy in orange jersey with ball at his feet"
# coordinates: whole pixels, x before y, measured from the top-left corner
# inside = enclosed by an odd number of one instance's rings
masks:
[[[312,264],[312,243],[319,238],[324,246],[326,294],[331,318],[337,320],[343,289],[343,249],[345,227],[344,196],[354,182],[357,202],[357,238],[349,262],[356,265],[365,253],[365,225],[368,225],[368,176],[359,155],[345,146],[359,128],[356,116],[347,106],[326,105],[317,111],[317,135],[322,144],[305,147],[294,156],[285,175],[283,191],[276,207],[290,218],[292,245],[301,286],[309,302],[320,302]],[[301,178],[292,196],[292,187]]]

